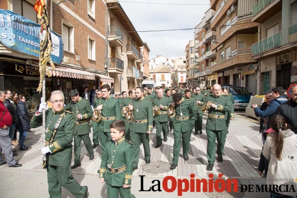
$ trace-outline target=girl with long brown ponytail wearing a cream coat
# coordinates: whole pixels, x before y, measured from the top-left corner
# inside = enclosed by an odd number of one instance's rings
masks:
[[[270,160],[267,173],[267,185],[288,185],[297,189],[293,178],[296,175],[297,135],[294,134],[282,115],[271,117],[271,132],[264,144],[263,155]],[[295,178],[295,177],[294,177]],[[292,187],[290,187],[292,186]],[[296,197],[296,192],[270,191],[271,197]]]

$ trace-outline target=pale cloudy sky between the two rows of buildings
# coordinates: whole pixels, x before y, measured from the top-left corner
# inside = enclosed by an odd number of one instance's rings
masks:
[[[207,5],[163,5],[128,3],[170,3],[170,4],[207,4]],[[137,31],[195,28],[209,8],[209,0],[119,0]],[[194,39],[194,29],[178,31],[139,32],[147,42],[150,59],[157,55],[178,57],[185,55],[185,47]]]

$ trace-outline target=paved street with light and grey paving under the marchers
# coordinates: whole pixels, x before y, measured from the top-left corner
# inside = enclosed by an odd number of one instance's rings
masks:
[[[220,173],[224,174],[224,179],[236,178],[240,184],[265,184],[266,180],[261,178],[257,173],[257,166],[259,156],[262,149],[262,140],[259,135],[259,125],[256,120],[252,118],[246,118],[243,112],[236,111],[235,120],[231,121],[229,134],[224,149],[224,161],[214,164],[213,171],[207,171],[207,157],[206,157],[206,145],[207,136],[205,134],[205,128],[203,134],[191,136],[189,161],[185,162],[180,153],[178,161],[178,167],[175,170],[169,170],[172,162],[173,155],[173,132],[169,132],[168,141],[163,142],[163,145],[159,148],[154,148],[156,144],[155,129],[150,134],[151,143],[151,166],[145,165],[143,147],[140,153],[140,160],[138,164],[138,170],[133,172],[132,179],[132,193],[137,197],[143,195],[154,195],[154,197],[177,197],[177,192],[167,193],[162,192],[140,192],[140,177],[139,175],[146,175],[144,178],[144,189],[148,189],[154,185],[151,183],[154,179],[159,179],[162,185],[162,178],[165,176],[174,176],[175,178],[188,178],[190,174],[195,174],[195,178],[206,178],[208,174],[213,173],[214,178],[218,178]],[[206,124],[206,115],[203,116],[203,126]],[[32,129],[33,132],[29,133],[26,138],[26,145],[29,145],[28,151],[19,151],[17,147],[13,150],[17,150],[18,156],[15,159],[18,163],[23,164],[20,168],[9,168],[7,165],[0,167],[2,178],[6,178],[7,182],[1,183],[0,190],[4,192],[4,197],[15,197],[23,194],[23,197],[48,197],[47,193],[47,180],[46,172],[42,169],[42,155],[40,149],[42,148],[42,132],[41,128]],[[194,133],[194,132],[193,132]],[[92,136],[92,134],[90,134]],[[91,137],[92,139],[92,137]],[[82,185],[89,187],[89,197],[107,197],[106,185],[99,183],[99,176],[97,170],[101,163],[101,148],[96,148],[95,159],[89,161],[84,145],[81,150],[81,162],[82,166],[73,169],[74,177],[81,182]],[[72,160],[74,158],[72,157]],[[217,157],[216,157],[217,159]],[[161,162],[167,162],[161,163]],[[72,161],[73,164],[73,161]],[[163,173],[154,173],[157,170],[163,171]],[[21,182],[22,181],[22,182]],[[10,191],[11,186],[22,183],[22,188],[18,188],[17,191]],[[156,183],[155,183],[156,184]],[[162,188],[161,188],[162,189]],[[98,193],[101,193],[100,195]],[[216,197],[215,194],[207,196],[205,193],[198,193],[199,197]],[[3,195],[3,194],[2,194]],[[62,197],[67,197],[69,193],[64,189]],[[196,197],[197,193],[187,192],[183,196]],[[222,194],[221,194],[222,195]],[[226,196],[226,195],[225,195]],[[268,197],[268,193],[243,193],[242,194],[228,194],[229,197]],[[227,197],[228,197],[227,196]],[[69,197],[72,197],[69,195]]]

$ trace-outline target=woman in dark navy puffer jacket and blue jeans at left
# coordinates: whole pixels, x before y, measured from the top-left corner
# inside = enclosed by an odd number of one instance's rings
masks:
[[[26,98],[22,94],[18,96],[17,113],[18,113],[18,130],[20,132],[20,151],[27,151],[29,147],[24,145],[27,132],[30,129],[28,109],[26,107]]]

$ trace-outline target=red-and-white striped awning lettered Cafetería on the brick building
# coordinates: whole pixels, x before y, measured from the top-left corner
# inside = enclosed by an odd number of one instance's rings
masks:
[[[64,66],[56,66],[55,70],[53,70],[51,67],[48,68],[50,69],[51,74],[56,77],[95,80],[95,75],[91,72],[79,69],[72,69]]]

